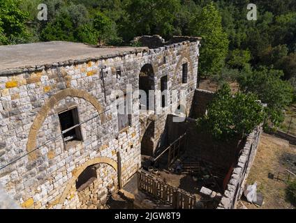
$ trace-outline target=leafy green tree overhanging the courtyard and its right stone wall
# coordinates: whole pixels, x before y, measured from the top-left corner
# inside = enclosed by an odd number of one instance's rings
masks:
[[[253,93],[231,94],[224,84],[207,107],[207,114],[199,118],[198,129],[209,132],[214,139],[243,139],[264,121],[265,113]]]

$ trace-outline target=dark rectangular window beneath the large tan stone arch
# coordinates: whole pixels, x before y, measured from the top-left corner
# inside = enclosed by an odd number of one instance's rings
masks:
[[[78,118],[78,111],[77,108],[70,109],[66,112],[62,112],[59,114],[59,123],[61,124],[61,132],[64,132],[65,130],[68,130],[69,128],[72,128],[75,125],[79,124],[79,118]],[[68,130],[63,134],[64,141],[81,141],[82,135],[80,131],[80,126],[77,126],[71,130]]]

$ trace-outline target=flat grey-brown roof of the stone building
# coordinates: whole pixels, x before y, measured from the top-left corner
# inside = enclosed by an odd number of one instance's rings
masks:
[[[0,70],[44,66],[70,60],[116,56],[124,52],[140,52],[147,47],[94,47],[84,43],[53,41],[0,46]]]

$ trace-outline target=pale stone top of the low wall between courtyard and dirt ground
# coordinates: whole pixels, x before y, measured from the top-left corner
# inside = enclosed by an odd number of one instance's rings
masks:
[[[218,209],[233,209],[237,206],[237,201],[244,192],[244,185],[249,171],[253,165],[253,160],[256,157],[258,142],[260,134],[262,133],[262,126],[256,128],[246,139],[244,149],[241,151],[237,164],[232,171],[230,180],[227,185]]]

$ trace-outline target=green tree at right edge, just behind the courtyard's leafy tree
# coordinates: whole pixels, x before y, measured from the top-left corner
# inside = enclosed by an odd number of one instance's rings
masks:
[[[283,71],[261,66],[258,70],[244,73],[238,79],[239,88],[243,92],[255,93],[267,104],[267,120],[275,127],[283,121],[283,109],[293,101],[293,87],[283,81],[282,77]]]

